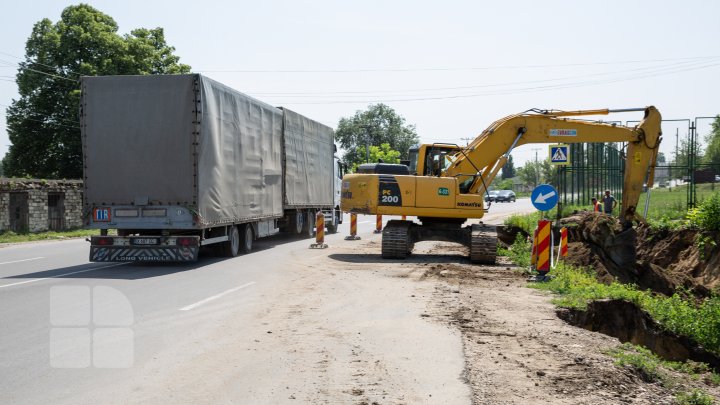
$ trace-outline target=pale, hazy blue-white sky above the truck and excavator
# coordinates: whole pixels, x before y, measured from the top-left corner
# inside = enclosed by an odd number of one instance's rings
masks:
[[[529,108],[657,106],[664,118],[720,113],[720,2],[87,1],[121,34],[163,27],[193,71],[336,127],[384,102],[423,142],[464,144]],[[66,1],[13,2],[0,34],[0,107],[34,23]],[[8,63],[9,62],[9,63]],[[641,113],[608,117],[636,120]],[[0,156],[9,145],[0,117]],[[709,120],[702,121],[706,133]],[[677,125],[663,127],[662,150]],[[680,136],[687,125],[680,124]],[[532,145],[516,161],[534,158]],[[547,156],[547,148],[539,151]]]

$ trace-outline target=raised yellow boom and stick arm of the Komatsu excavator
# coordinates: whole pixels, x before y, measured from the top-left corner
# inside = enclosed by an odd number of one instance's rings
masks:
[[[644,110],[639,125],[625,127],[609,123],[582,121],[570,116],[607,115],[614,112]],[[510,152],[530,143],[627,142],[623,184],[624,221],[638,219],[636,207],[645,181],[652,184],[661,135],[661,116],[655,107],[626,110],[543,111],[505,117],[494,122],[466,148],[458,151],[444,176],[457,177],[467,184],[468,193],[483,194]]]

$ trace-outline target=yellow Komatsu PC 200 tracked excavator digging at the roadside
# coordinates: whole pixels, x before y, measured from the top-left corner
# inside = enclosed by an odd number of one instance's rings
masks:
[[[635,127],[568,117],[644,111]],[[470,261],[493,264],[494,227],[463,226],[486,212],[484,195],[510,153],[528,143],[626,142],[621,221],[642,220],[636,212],[643,183],[653,184],[661,140],[655,107],[583,111],[529,110],[495,121],[466,147],[436,143],[410,149],[409,165],[364,164],[342,180],[345,212],[409,215],[420,223],[391,220],[382,232],[382,257],[404,259],[420,241],[467,246]]]

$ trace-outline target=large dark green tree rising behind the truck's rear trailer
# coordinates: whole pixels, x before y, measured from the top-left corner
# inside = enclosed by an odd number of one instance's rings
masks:
[[[55,24],[47,18],[35,24],[16,77],[20,99],[7,109],[6,175],[82,177],[80,76],[190,71],[162,28],[124,36],[117,30],[112,17],[87,4],[65,8]]]

